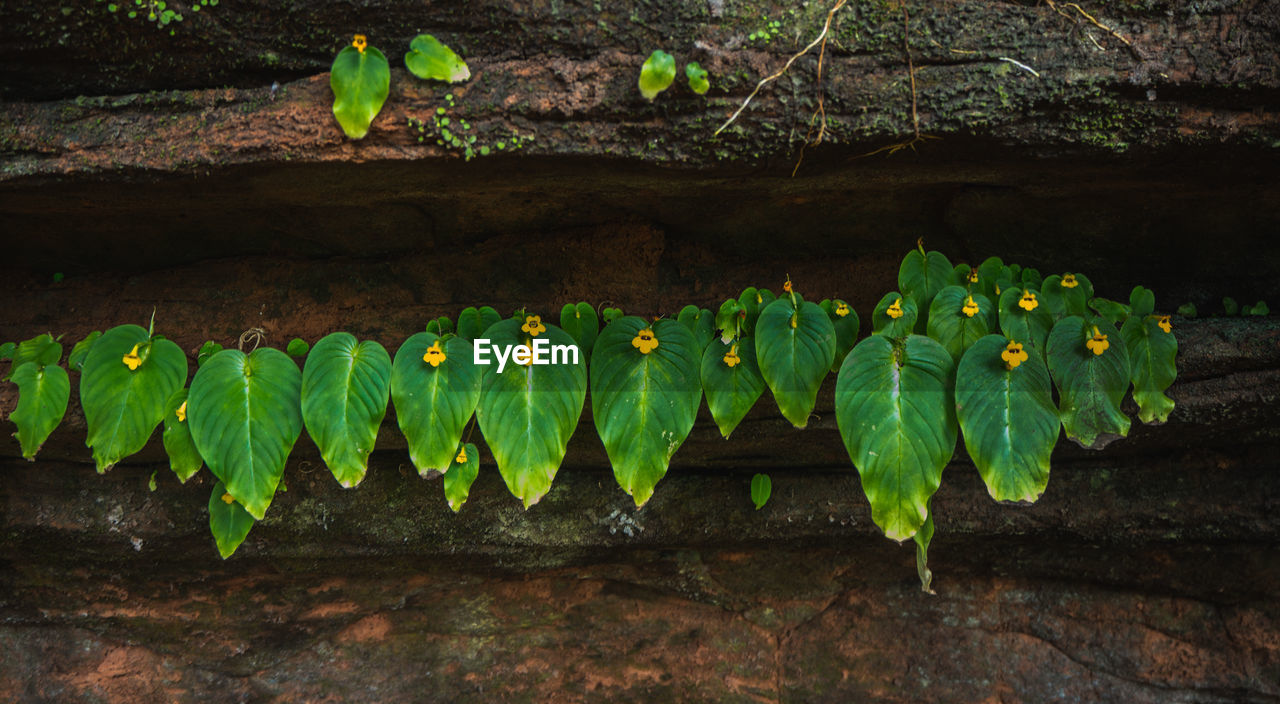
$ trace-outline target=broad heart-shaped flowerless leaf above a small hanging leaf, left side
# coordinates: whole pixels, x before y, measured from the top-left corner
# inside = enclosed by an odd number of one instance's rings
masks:
[[[269,347],[248,356],[223,349],[191,381],[187,422],[196,449],[260,521],[302,433],[301,393],[298,365]]]

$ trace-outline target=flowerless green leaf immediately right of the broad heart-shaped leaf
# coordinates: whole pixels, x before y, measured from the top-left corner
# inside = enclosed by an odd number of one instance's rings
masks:
[[[302,422],[320,457],[343,488],[369,470],[369,453],[387,415],[392,357],[374,342],[332,333],[316,343],[302,369]]]

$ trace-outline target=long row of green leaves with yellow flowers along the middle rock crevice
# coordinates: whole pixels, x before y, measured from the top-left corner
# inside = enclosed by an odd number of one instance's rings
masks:
[[[479,468],[466,435],[475,416],[508,489],[529,507],[550,489],[590,390],[617,481],[643,506],[704,396],[726,438],[765,388],[804,428],[823,379],[837,371],[837,425],[873,520],[888,538],[916,539],[925,579],[929,500],[957,433],[995,499],[1029,502],[1044,492],[1060,428],[1085,447],[1124,436],[1130,421],[1120,403],[1130,385],[1144,422],[1172,410],[1164,392],[1176,340],[1142,287],[1121,303],[1093,297],[1082,274],[1042,279],[996,257],[952,266],[923,247],[904,259],[899,285],[860,342],[847,302],[805,301],[787,282],[781,296],[748,288],[716,314],[687,306],[675,319],[618,308],[598,316],[577,303],[564,306],[557,326],[525,311],[503,319],[471,307],[456,328],[447,317],[430,321],[394,358],[378,342],[333,333],[301,371],[276,349],[244,355],[209,343],[189,389],[182,349],[137,325],[91,334],[69,366],[82,372],[99,471],[138,452],[161,422],[179,479],[210,467],[219,480],[211,526],[224,557],[265,516],[303,428],[335,479],[355,486],[393,402],[415,467],[443,472],[458,511]],[[581,356],[499,371],[474,362],[479,338],[497,347],[577,346]],[[9,353],[19,387],[12,420],[31,458],[65,412],[69,379],[50,335]]]

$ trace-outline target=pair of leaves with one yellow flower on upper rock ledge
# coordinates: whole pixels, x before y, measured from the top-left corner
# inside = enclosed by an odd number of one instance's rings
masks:
[[[424,81],[457,83],[471,78],[466,61],[431,35],[413,37],[404,54],[404,67]],[[338,52],[329,70],[333,115],[347,137],[361,140],[369,134],[369,125],[390,92],[392,72],[387,56],[369,46],[364,35],[356,35],[351,46]]]

